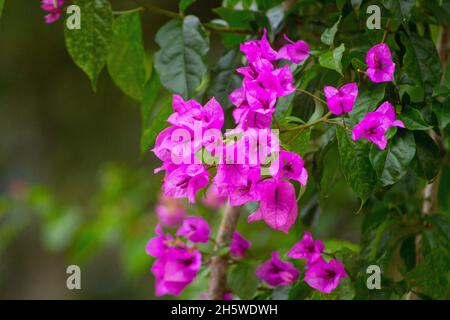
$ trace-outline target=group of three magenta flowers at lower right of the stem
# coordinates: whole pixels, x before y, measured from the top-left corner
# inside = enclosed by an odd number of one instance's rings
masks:
[[[347,277],[347,273],[339,260],[325,261],[322,257],[324,248],[322,241],[314,241],[311,233],[305,232],[287,256],[306,259],[305,282],[316,290],[330,293],[339,285],[341,278]],[[291,262],[280,260],[279,254],[274,252],[272,258],[256,270],[256,275],[271,286],[280,286],[294,282],[299,272]]]

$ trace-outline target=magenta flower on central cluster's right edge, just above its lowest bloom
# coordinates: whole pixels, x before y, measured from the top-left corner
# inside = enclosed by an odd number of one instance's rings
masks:
[[[269,171],[273,177],[297,180],[302,186],[308,182],[308,172],[304,168],[303,158],[294,152],[281,150],[278,159],[269,167]]]

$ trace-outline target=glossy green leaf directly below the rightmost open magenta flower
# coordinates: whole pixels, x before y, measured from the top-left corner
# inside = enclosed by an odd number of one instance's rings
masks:
[[[398,132],[385,150],[372,145],[370,161],[382,187],[399,181],[408,171],[408,166],[416,153],[416,144],[411,132]]]

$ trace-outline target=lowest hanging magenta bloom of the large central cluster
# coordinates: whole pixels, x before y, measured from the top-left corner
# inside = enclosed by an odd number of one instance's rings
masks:
[[[258,184],[258,189],[259,209],[248,221],[263,219],[269,227],[288,233],[298,213],[294,186],[286,180],[267,179]]]

